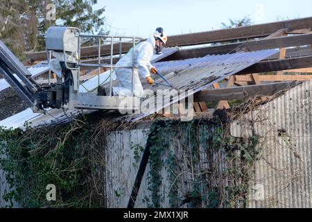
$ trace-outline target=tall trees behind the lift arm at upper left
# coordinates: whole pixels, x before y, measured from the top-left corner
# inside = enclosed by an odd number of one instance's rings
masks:
[[[55,20],[47,19],[50,4]],[[83,33],[107,33],[105,8],[94,10],[97,0],[0,0],[0,39],[22,58],[24,51],[44,50],[49,26],[75,26]]]

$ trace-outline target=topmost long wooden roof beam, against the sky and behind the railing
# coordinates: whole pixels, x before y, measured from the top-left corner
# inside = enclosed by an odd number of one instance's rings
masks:
[[[217,31],[207,31],[201,33],[190,33],[184,35],[171,35],[168,37],[167,47],[170,46],[190,46],[196,44],[207,44],[212,42],[227,42],[232,40],[248,40],[254,37],[266,37],[280,30],[287,29],[294,31],[299,29],[312,28],[312,17],[302,19],[293,19],[281,22],[272,22],[268,24],[259,24],[253,26],[243,26],[239,28],[225,28]],[[127,52],[132,44],[123,44],[122,52]],[[114,54],[119,53],[119,44],[114,44]],[[88,46],[81,48],[83,58],[98,55],[97,46]],[[110,45],[103,45],[101,56],[110,55]],[[26,53],[26,60],[42,61],[46,60],[46,52]]]

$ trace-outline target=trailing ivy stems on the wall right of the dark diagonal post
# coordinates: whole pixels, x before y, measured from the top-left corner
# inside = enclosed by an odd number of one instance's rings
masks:
[[[148,172],[148,189],[151,193],[149,207],[163,207],[166,195],[169,207],[182,207],[185,204],[188,207],[212,208],[246,206],[252,166],[259,155],[257,135],[248,139],[234,138],[229,135],[227,124],[218,119],[186,123],[159,120],[151,126],[150,134],[152,146]],[[180,145],[175,144],[175,140]],[[187,172],[182,171],[182,153],[178,152],[182,152],[184,159],[187,159]],[[202,160],[204,153],[207,160]],[[214,162],[216,153],[223,153],[220,156],[223,156],[224,160]],[[208,163],[206,169],[200,169],[202,162]],[[218,171],[220,166],[217,164],[221,162],[227,167]],[[164,167],[166,181],[171,183],[170,189],[167,187],[166,190],[168,193],[164,193],[165,188],[162,184]],[[192,180],[183,181],[180,175],[184,173],[191,174]],[[219,178],[214,178],[216,174]],[[229,181],[217,184],[214,180]],[[181,193],[183,184],[189,186],[184,194]],[[147,197],[145,201],[148,202]]]

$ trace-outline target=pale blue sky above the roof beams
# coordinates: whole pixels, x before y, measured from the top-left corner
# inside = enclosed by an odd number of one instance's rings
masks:
[[[254,24],[312,17],[311,0],[98,0],[112,35],[148,37],[161,26],[168,35],[220,29],[249,15]]]

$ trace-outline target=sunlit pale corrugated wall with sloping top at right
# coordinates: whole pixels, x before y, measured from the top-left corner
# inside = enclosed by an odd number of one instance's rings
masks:
[[[312,207],[311,89],[312,81],[307,81],[246,114],[238,125],[237,121],[232,123],[232,135],[248,136],[250,130],[244,131],[243,125],[250,121],[250,115],[267,117],[254,125],[266,139],[254,175],[254,184],[265,186],[264,198],[254,200],[250,195],[250,207]],[[286,135],[278,135],[281,129],[286,130]]]

